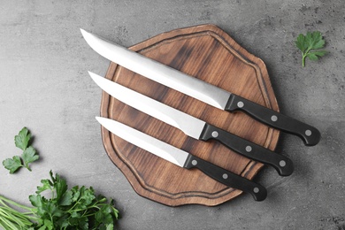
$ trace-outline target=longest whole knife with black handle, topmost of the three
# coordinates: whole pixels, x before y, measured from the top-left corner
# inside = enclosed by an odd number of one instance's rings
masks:
[[[316,145],[321,138],[318,129],[313,126],[292,119],[280,112],[272,111],[265,106],[253,103],[203,80],[191,77],[170,66],[92,35],[83,29],[80,31],[88,45],[98,54],[134,73],[139,73],[150,80],[155,80],[221,110],[244,111],[252,118],[268,126],[299,136],[307,146]]]

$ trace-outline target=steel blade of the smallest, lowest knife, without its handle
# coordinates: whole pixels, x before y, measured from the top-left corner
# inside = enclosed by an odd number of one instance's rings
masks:
[[[164,158],[175,165],[183,167],[189,155],[181,149],[177,149],[170,144],[159,141],[158,139],[126,126],[113,119],[96,117],[98,122],[108,129],[112,134],[119,136],[126,142],[133,143],[139,148],[145,149],[157,157]]]

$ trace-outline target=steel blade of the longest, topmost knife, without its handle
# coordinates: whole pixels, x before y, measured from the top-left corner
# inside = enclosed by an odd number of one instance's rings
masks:
[[[88,45],[104,58],[111,60],[125,68],[139,73],[150,80],[155,80],[169,88],[178,90],[188,96],[209,103],[224,110],[231,93],[213,86],[203,80],[191,77],[172,67],[163,65],[153,59],[146,58],[139,53],[128,50],[118,44],[106,41],[80,29]]]

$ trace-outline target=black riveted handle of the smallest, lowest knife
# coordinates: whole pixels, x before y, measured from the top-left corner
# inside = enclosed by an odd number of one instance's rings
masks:
[[[251,194],[256,201],[263,201],[267,196],[265,187],[191,154],[189,154],[184,167],[188,169],[197,168],[228,187]]]

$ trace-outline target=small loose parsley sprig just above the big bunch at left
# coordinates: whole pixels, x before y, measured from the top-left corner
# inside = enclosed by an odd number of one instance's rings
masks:
[[[22,149],[23,153],[20,157],[14,156],[3,161],[4,167],[8,169],[11,174],[17,172],[21,167],[25,167],[27,170],[31,171],[29,164],[39,159],[35,148],[30,145],[30,139],[31,134],[27,127],[23,127],[19,131],[19,134],[14,137],[16,147]]]

